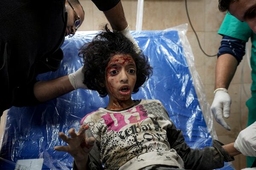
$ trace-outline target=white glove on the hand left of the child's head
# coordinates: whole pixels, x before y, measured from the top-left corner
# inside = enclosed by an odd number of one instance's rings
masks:
[[[76,90],[78,88],[88,89],[87,86],[83,83],[84,74],[82,73],[83,66],[79,68],[76,72],[68,75],[71,85]]]

